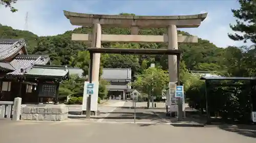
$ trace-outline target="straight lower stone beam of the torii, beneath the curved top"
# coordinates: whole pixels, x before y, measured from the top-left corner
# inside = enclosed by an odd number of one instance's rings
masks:
[[[91,41],[92,34],[72,34],[73,41]],[[134,42],[134,43],[161,43],[168,42],[168,36],[162,35],[101,35],[102,42]],[[197,36],[178,35],[179,43],[197,43]]]

